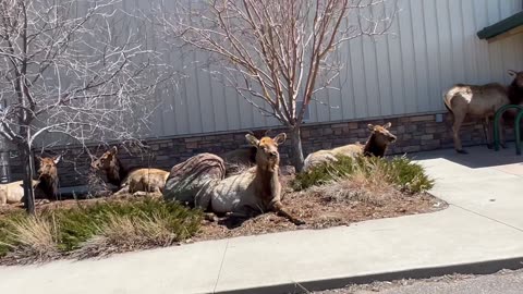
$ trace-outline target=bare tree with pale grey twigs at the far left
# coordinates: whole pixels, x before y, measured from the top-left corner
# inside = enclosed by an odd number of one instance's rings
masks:
[[[117,0],[0,1],[0,134],[20,151],[29,212],[37,140],[85,146],[146,125],[161,75],[130,17]]]

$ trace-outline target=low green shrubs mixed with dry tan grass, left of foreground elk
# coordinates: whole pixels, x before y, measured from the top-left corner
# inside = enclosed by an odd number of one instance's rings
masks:
[[[0,219],[0,257],[15,253],[44,259],[93,246],[94,255],[106,247],[169,246],[196,234],[202,220],[202,211],[160,199],[98,201],[42,210],[36,217],[11,213]]]

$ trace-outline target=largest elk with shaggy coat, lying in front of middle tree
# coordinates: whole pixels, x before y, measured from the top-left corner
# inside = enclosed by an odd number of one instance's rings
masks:
[[[214,213],[230,212],[240,218],[275,211],[296,225],[304,224],[302,220],[285,211],[281,203],[278,146],[285,140],[287,135],[281,133],[275,138],[257,139],[247,134],[245,138],[256,147],[255,167],[223,179],[224,166],[221,158],[209,154],[198,155],[171,170],[166,185],[169,189],[166,188],[163,197]],[[191,164],[194,167],[190,167]],[[212,169],[216,171],[215,175],[203,172]]]

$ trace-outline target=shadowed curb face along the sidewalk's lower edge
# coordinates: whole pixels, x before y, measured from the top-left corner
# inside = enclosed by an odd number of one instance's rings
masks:
[[[279,285],[251,287],[242,290],[219,291],[215,294],[299,294],[309,293],[312,291],[324,291],[331,289],[342,289],[351,284],[368,284],[372,282],[394,281],[401,279],[428,279],[446,274],[491,274],[503,269],[516,270],[523,268],[523,257],[490,260],[482,262],[417,268],[393,272],[373,273],[366,275],[355,275],[346,278],[336,278],[318,281],[305,281],[299,283],[284,283]]]

